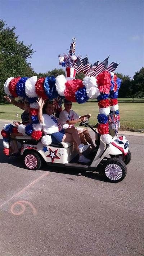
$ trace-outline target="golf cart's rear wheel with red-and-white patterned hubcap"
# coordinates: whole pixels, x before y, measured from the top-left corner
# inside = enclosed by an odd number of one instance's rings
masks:
[[[26,152],[23,156],[23,163],[27,169],[32,171],[41,168],[40,156],[35,152]]]

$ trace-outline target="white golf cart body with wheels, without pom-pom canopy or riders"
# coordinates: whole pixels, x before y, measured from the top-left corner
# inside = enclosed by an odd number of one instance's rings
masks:
[[[113,115],[114,113],[110,114]],[[119,182],[126,176],[126,164],[131,160],[131,153],[128,150],[123,154],[121,148],[116,147],[113,142],[117,140],[114,130],[109,125],[109,133],[113,139],[110,144],[104,144],[99,133],[89,124],[89,121],[80,124],[90,127],[95,133],[96,149],[90,153],[88,158],[91,162],[80,164],[78,154],[72,142],[58,142],[45,146],[41,141],[32,140],[31,136],[17,136],[16,140],[22,143],[21,155],[23,163],[27,169],[37,170],[45,162],[49,166],[76,168],[80,171],[99,172],[112,182]],[[123,139],[121,139],[123,143]]]

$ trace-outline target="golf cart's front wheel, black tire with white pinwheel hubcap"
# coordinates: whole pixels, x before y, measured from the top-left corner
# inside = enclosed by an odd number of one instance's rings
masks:
[[[126,176],[126,170],[125,163],[116,157],[109,158],[103,165],[103,175],[113,183],[122,181]]]

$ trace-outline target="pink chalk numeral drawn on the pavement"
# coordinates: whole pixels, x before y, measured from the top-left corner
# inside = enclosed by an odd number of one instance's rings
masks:
[[[20,212],[16,212],[15,211],[15,206],[17,206],[17,205],[20,205],[21,206],[21,208],[22,208],[22,210],[20,211]],[[10,211],[11,211],[11,213],[13,214],[13,215],[21,215],[22,213],[24,213],[24,211],[25,211],[25,209],[26,209],[26,206],[24,205],[24,204],[28,204],[31,208],[32,208],[32,213],[34,214],[34,215],[36,215],[36,209],[35,209],[35,207],[33,207],[33,205],[31,204],[31,203],[29,203],[29,202],[27,202],[27,201],[17,201],[17,202],[15,202],[11,207],[10,207]]]

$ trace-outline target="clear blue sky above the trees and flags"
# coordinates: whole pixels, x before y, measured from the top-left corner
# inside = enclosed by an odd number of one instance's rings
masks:
[[[129,75],[144,66],[143,0],[0,0],[0,18],[24,44],[32,44],[36,72],[60,68],[58,54],[67,53],[76,37],[76,55],[89,62],[119,63]]]

